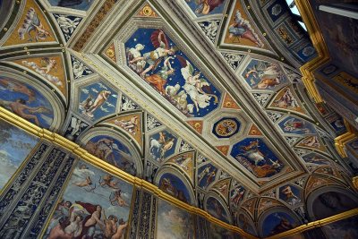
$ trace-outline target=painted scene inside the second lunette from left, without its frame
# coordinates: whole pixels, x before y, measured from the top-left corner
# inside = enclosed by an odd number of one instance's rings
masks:
[[[90,154],[105,160],[130,175],[137,174],[137,168],[132,153],[124,143],[112,137],[98,135],[90,139],[84,147]]]

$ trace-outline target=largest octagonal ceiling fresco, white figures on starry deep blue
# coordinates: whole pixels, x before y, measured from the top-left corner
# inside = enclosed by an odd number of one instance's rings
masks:
[[[217,108],[220,92],[163,30],[136,30],[125,47],[132,71],[183,115],[202,117]]]

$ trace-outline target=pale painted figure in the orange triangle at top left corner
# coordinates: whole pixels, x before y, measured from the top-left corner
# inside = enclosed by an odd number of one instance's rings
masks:
[[[36,13],[35,9],[33,9],[32,7],[30,7],[28,12],[26,13],[26,17],[17,32],[19,33],[20,39],[25,39],[25,34],[27,34],[29,36],[28,41],[33,41],[34,38],[30,34],[31,31],[35,31],[36,41],[38,41],[38,39],[44,40],[45,38],[50,36],[50,33],[45,30],[41,21],[39,21],[38,13]]]

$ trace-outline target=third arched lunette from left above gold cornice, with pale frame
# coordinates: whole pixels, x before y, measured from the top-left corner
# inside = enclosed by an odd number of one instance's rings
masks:
[[[180,175],[180,172],[173,166],[160,167],[154,179],[154,184],[163,192],[166,192],[178,200],[196,205],[191,182]]]

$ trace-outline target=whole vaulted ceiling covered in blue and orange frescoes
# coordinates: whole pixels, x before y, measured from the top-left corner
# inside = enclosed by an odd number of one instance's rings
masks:
[[[13,1],[0,105],[223,221],[300,215],[308,178],[350,174],[297,70],[310,38],[285,1],[203,2]]]

